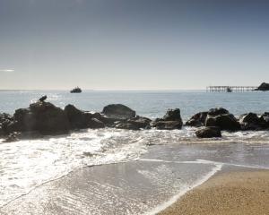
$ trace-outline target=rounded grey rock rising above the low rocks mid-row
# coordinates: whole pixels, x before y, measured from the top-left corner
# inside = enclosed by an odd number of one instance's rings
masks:
[[[134,110],[121,104],[108,105],[103,108],[102,113],[115,119],[129,119],[135,117]]]

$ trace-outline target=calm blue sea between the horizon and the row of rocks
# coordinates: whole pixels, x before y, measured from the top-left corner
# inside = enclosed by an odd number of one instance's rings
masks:
[[[247,112],[269,111],[269,92],[205,92],[178,91],[95,91],[73,94],[68,91],[0,91],[0,112],[13,113],[16,108],[28,107],[42,95],[56,106],[74,104],[83,110],[101,111],[108,104],[121,103],[136,110],[138,115],[163,116],[168,108],[179,107],[184,119],[212,107],[225,107],[239,115]]]

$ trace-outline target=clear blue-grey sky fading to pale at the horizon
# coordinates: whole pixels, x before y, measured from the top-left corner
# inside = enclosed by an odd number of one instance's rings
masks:
[[[269,82],[269,1],[0,0],[0,89]]]

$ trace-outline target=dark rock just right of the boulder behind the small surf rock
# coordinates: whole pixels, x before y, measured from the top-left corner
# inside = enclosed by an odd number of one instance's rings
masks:
[[[263,122],[255,113],[239,116],[239,124],[242,130],[258,130],[263,127]]]

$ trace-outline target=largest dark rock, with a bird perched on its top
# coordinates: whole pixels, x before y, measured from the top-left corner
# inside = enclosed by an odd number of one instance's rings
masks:
[[[15,111],[14,131],[37,131],[42,134],[67,133],[70,124],[65,111],[49,102],[36,102]]]

